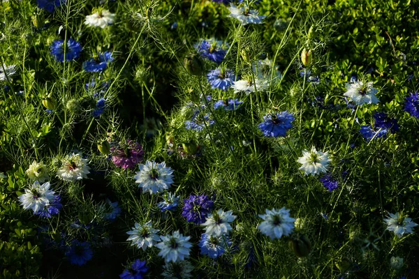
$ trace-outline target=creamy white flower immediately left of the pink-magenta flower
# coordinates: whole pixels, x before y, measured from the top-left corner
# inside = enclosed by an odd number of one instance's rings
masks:
[[[57,176],[64,181],[76,181],[87,177],[90,173],[87,159],[82,158],[81,153],[72,153],[64,160],[61,160],[61,167],[57,171]]]

